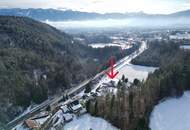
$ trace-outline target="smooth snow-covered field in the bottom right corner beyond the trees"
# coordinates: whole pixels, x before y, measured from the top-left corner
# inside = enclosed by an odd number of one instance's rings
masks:
[[[158,104],[150,117],[152,130],[190,130],[190,91]]]

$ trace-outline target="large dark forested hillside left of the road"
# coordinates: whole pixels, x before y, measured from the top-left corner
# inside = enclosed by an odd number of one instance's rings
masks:
[[[92,77],[110,55],[119,59],[139,46],[124,53],[116,47],[93,49],[47,24],[0,16],[0,125]]]

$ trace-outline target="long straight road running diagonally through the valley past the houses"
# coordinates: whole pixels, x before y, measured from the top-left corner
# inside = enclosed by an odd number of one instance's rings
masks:
[[[125,63],[129,63],[131,59],[135,58],[136,56],[138,56],[140,53],[142,53],[144,50],[146,49],[146,43],[143,42],[140,49],[138,51],[135,51],[134,53],[132,53],[131,55],[129,56],[126,56],[124,57],[123,59],[119,60],[115,65],[114,67],[116,68],[116,70],[118,70],[121,66],[125,65]],[[109,68],[108,68],[109,69]],[[107,70],[108,70],[107,69]],[[76,93],[79,93],[81,92],[82,90],[85,89],[85,86],[99,78],[100,76],[102,75],[105,75],[105,71],[107,70],[104,70],[98,74],[96,74],[93,78],[89,78],[85,81],[83,81],[82,83],[80,83],[79,85],[77,85],[76,87],[74,88],[71,88],[69,90],[67,90],[67,94],[70,96],[70,97],[74,97]],[[44,101],[43,103],[41,103],[40,105],[38,105],[37,107],[33,108],[30,112],[28,113],[25,113],[23,115],[21,115],[20,117],[12,120],[11,122],[9,122],[7,125],[6,125],[6,130],[9,130],[9,129],[12,129],[14,128],[16,125],[18,125],[19,123],[22,123],[24,120],[34,116],[35,114],[37,114],[41,109],[45,109],[47,106],[49,106],[50,104],[54,104],[54,103],[57,103],[59,102],[60,100],[62,99],[62,95],[61,96],[56,96],[52,99],[48,99],[46,101]]]

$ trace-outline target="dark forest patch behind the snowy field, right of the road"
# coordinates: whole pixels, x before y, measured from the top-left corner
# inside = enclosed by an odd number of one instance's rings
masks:
[[[180,42],[181,43],[181,42]],[[165,58],[172,58],[179,49],[179,42],[171,40],[153,40],[148,42],[148,50],[145,50],[140,56],[137,56],[131,62],[133,64],[159,67]]]

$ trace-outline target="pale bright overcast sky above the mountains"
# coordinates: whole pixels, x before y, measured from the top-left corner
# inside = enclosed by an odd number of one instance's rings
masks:
[[[190,0],[0,0],[0,8],[66,8],[85,12],[168,14],[190,9]]]

